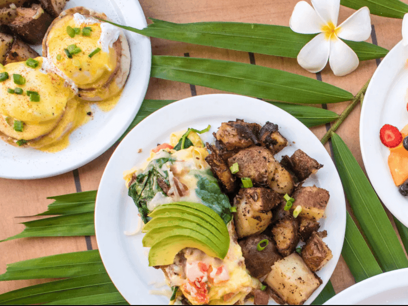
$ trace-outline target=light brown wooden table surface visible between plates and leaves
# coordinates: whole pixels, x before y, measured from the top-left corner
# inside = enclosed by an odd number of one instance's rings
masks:
[[[408,0],[403,0],[408,3]],[[202,21],[234,21],[248,23],[263,23],[274,25],[289,25],[289,18],[298,0],[139,0],[147,17],[157,18],[176,23]],[[339,24],[355,10],[340,6]],[[401,39],[402,19],[384,18],[371,15],[372,35],[369,43],[391,49]],[[223,59],[250,63],[248,52],[226,50],[214,47],[199,46],[171,42],[161,39],[151,39],[153,55],[175,55]],[[303,70],[296,59],[255,54],[255,64],[288,72],[317,78],[337,87],[356,94],[373,75],[379,60],[360,62],[356,71],[345,76],[336,77],[326,66],[320,74],[312,74]],[[196,94],[220,93],[220,90],[199,87]],[[150,79],[146,99],[183,99],[194,95],[188,84]],[[328,109],[340,114],[349,102],[329,104]],[[343,138],[354,157],[364,169],[360,150],[359,120],[361,108],[358,105],[349,115],[337,133]],[[312,128],[320,139],[326,132],[326,127]],[[94,190],[98,188],[100,177],[116,143],[107,152],[79,168],[78,170],[54,177],[35,180],[11,180],[0,178],[0,240],[21,232],[24,228],[19,222],[35,218],[16,218],[18,216],[33,216],[44,212],[51,202],[48,196],[61,195],[76,191]],[[330,153],[329,143],[326,149]],[[1,158],[1,157],[0,157]],[[388,211],[387,211],[388,213]],[[391,214],[389,214],[391,217]],[[394,225],[394,222],[391,222]],[[394,225],[395,227],[395,225]],[[6,270],[6,264],[67,252],[97,249],[95,237],[86,240],[84,237],[57,238],[23,238],[0,244],[0,273]],[[20,280],[0,282],[0,294],[48,280]],[[336,293],[355,283],[343,258],[340,258],[331,277]]]

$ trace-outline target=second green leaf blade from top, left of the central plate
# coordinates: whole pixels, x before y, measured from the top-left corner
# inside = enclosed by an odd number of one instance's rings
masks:
[[[94,235],[93,212],[58,216],[22,222],[24,230],[0,242],[27,237],[59,237]]]

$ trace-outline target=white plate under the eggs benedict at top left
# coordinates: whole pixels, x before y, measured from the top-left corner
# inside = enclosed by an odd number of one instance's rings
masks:
[[[146,19],[136,0],[70,0],[66,8],[85,6],[104,12],[114,22],[142,29]],[[70,135],[70,145],[57,153],[18,148],[0,140],[0,177],[29,179],[66,173],[95,159],[126,131],[146,94],[150,78],[151,45],[146,37],[125,33],[131,50],[131,71],[113,110],[92,105],[93,119]],[[41,54],[41,47],[36,50]]]

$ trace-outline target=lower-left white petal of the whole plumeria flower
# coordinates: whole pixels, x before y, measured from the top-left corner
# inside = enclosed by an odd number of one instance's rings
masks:
[[[307,43],[298,54],[298,63],[309,72],[319,72],[326,66],[330,53],[330,41],[320,33]]]

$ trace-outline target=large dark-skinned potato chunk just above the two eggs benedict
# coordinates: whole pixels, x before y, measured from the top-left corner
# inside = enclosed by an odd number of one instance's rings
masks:
[[[53,18],[40,4],[17,8],[18,16],[8,24],[10,30],[29,44],[40,44]]]

